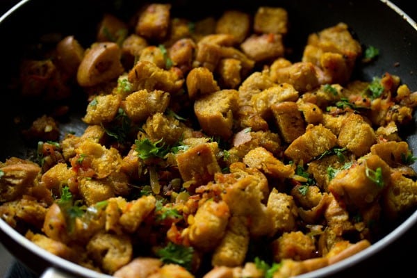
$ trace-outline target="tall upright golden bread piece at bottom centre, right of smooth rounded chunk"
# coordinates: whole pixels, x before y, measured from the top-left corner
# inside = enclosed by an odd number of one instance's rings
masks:
[[[249,240],[247,218],[231,216],[224,237],[213,252],[211,265],[229,267],[242,265],[245,261]]]

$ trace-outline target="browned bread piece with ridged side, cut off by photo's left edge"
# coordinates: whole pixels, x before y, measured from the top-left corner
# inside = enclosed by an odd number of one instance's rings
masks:
[[[27,194],[41,172],[39,165],[19,158],[9,158],[0,166],[0,202],[13,201]]]

